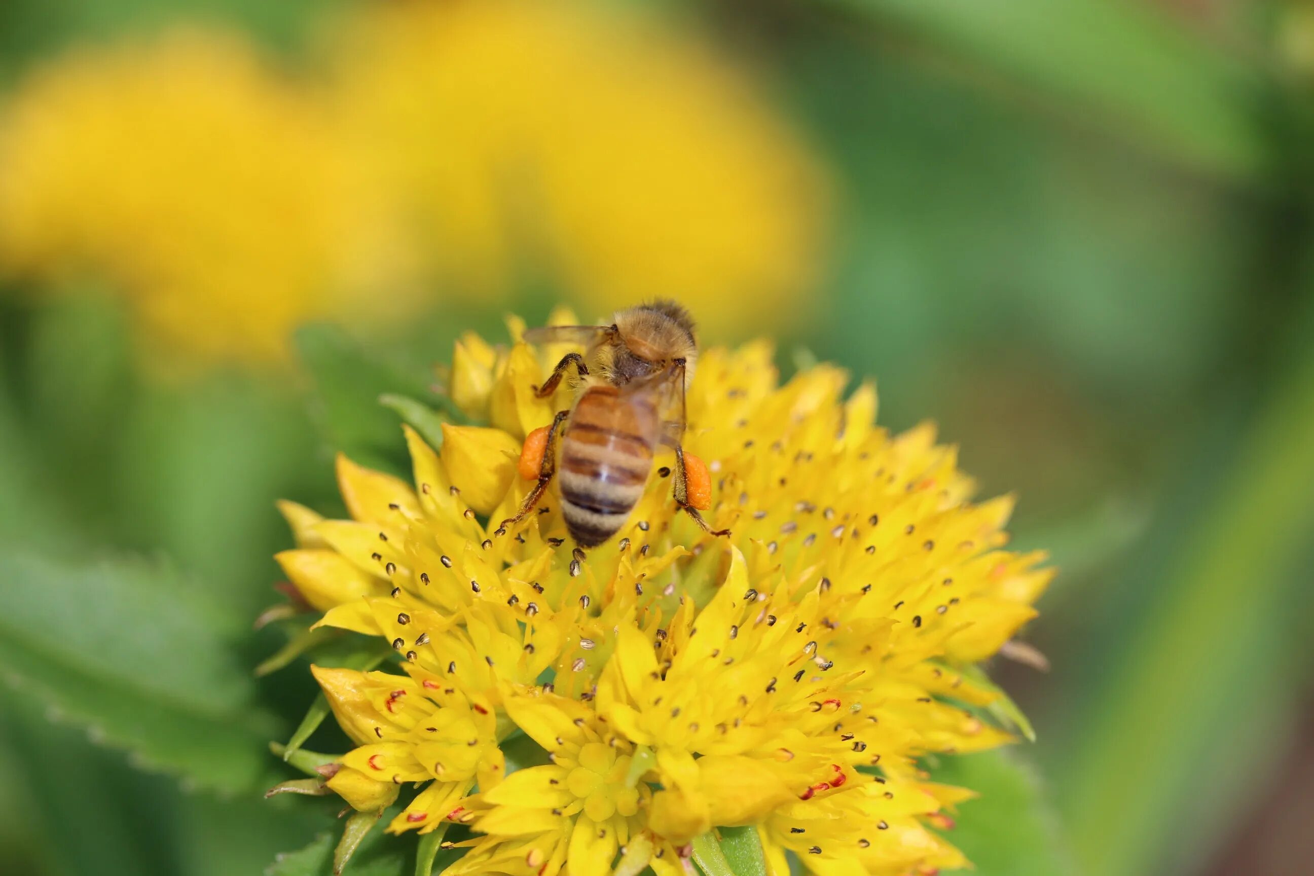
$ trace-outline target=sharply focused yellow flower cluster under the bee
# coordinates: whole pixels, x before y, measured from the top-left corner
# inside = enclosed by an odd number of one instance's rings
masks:
[[[731,826],[773,876],[791,855],[827,875],[963,865],[930,826],[970,792],[918,758],[1010,739],[972,711],[995,693],[967,671],[1050,579],[1003,550],[1010,502],[971,503],[930,427],[878,428],[870,385],[845,399],[825,365],[781,385],[756,343],[706,351],[689,394],[728,538],[677,512],[661,456],[587,554],[553,493],[494,529],[530,486],[520,440],[569,403],[531,391],[557,356],[466,336],[452,394],[490,427],[445,428],[442,452],[407,431],[414,487],[339,460],[352,520],[284,506],[298,548],[279,559],[319,623],[399,658],[315,668],[359,746],[328,785],[378,809],[420,783],[390,830],[451,830],[449,873],[675,876]]]

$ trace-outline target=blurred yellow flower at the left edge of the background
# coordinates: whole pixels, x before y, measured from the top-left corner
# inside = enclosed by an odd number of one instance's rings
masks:
[[[327,131],[233,35],[74,51],[0,121],[0,264],[106,280],[167,353],[279,359],[342,307],[352,205]]]

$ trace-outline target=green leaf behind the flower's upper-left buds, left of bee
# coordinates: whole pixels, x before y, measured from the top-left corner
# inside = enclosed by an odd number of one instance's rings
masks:
[[[313,414],[323,440],[361,465],[398,469],[397,416],[381,397],[419,397],[426,376],[368,353],[336,326],[306,326],[297,351],[314,381]]]

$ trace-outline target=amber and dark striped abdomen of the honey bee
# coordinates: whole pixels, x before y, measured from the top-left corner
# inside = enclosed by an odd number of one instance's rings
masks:
[[[644,494],[661,431],[656,399],[591,386],[561,437],[557,483],[570,537],[583,548],[616,535]]]

